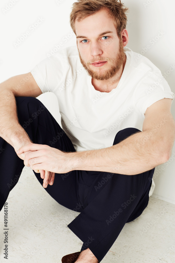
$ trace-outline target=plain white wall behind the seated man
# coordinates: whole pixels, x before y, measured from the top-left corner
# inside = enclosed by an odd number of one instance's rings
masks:
[[[30,72],[34,66],[47,57],[55,45],[60,42],[61,50],[76,45],[75,35],[69,24],[69,15],[74,0],[1,0],[0,3],[0,83],[23,73]],[[175,70],[169,71],[175,63],[174,51],[174,1],[173,0],[125,0],[128,13],[128,47],[149,58],[162,72],[172,92],[175,93]],[[10,7],[9,7],[10,6]],[[9,10],[4,10],[4,9]],[[31,29],[39,18],[44,19],[38,27]],[[2,26],[3,25],[3,26]],[[14,42],[29,31],[29,35],[17,47]],[[153,45],[152,39],[163,36]],[[67,41],[66,41],[67,36]],[[150,42],[151,41],[151,42]],[[150,49],[146,50],[147,45]],[[59,106],[55,94],[45,93],[38,97],[51,114],[60,123]],[[172,115],[175,119],[175,103],[172,103]],[[175,204],[174,176],[175,146],[168,163],[155,169],[156,184],[153,197]]]

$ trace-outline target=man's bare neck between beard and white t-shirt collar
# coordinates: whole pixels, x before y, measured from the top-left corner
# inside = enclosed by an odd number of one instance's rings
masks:
[[[125,64],[126,64],[126,55],[125,55],[125,61],[123,62],[120,70],[113,78],[107,80],[92,79],[91,83],[94,86],[94,89],[100,92],[110,92],[111,90],[115,89],[121,79]]]

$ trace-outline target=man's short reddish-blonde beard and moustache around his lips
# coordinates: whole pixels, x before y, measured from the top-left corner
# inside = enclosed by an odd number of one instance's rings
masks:
[[[79,53],[79,49],[78,49],[78,53]],[[83,67],[86,69],[88,75],[90,75],[93,79],[107,80],[109,78],[112,78],[120,70],[121,65],[123,64],[123,62],[125,60],[125,52],[124,52],[124,48],[123,48],[122,38],[120,38],[119,51],[118,51],[118,53],[116,53],[116,57],[114,59],[100,57],[99,59],[95,59],[94,61],[91,61],[91,62],[89,61],[89,62],[85,63],[84,60],[82,59],[80,53],[79,53],[79,58],[80,58],[80,61],[83,65]],[[110,68],[104,70],[101,67],[96,67],[96,69],[97,69],[96,71],[89,68],[89,65],[91,63],[93,63],[95,61],[100,61],[100,60],[107,61],[111,65]],[[98,70],[98,69],[100,69],[100,70]]]

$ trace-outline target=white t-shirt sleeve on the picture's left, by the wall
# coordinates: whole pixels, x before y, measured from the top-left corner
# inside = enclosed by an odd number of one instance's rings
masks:
[[[43,59],[30,72],[42,93],[54,92],[66,74],[64,54]]]

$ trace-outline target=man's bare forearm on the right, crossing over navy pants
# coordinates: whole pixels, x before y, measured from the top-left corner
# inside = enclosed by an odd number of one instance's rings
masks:
[[[140,174],[166,162],[158,138],[149,134],[149,131],[137,132],[108,148],[68,154],[75,170]]]

